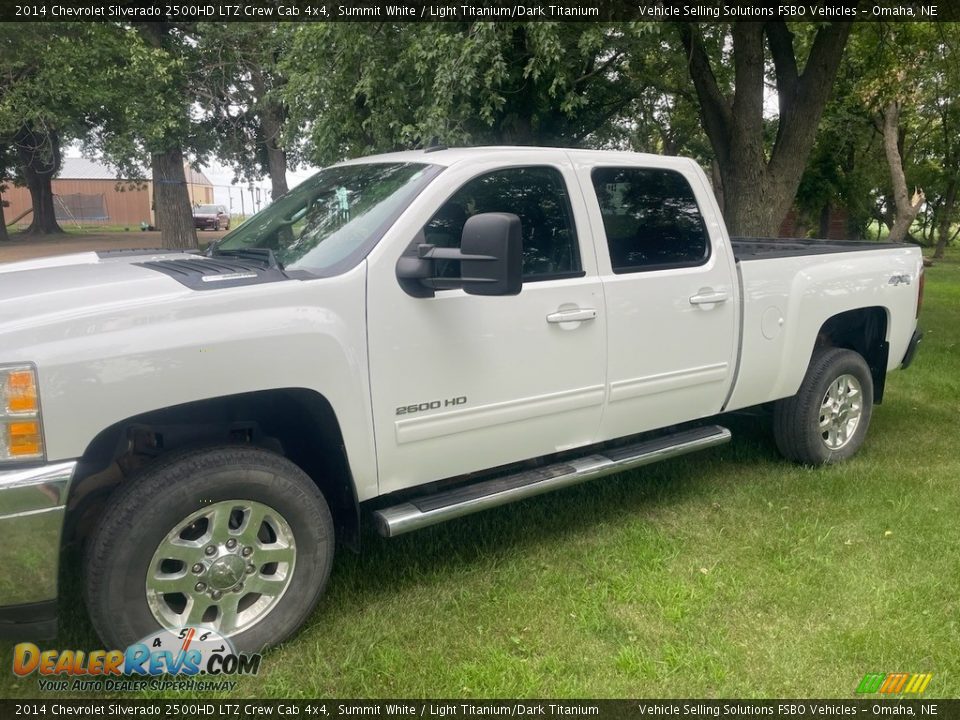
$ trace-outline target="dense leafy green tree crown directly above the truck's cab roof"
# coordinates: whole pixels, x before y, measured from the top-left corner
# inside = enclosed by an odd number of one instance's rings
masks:
[[[636,95],[642,24],[314,23],[282,61],[311,160],[445,144],[577,146]]]

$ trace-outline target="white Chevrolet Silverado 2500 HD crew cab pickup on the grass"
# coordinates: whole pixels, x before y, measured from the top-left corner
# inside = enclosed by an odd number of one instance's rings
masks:
[[[329,167],[205,254],[0,265],[0,628],[293,633],[335,540],[730,438],[845,459],[920,339],[917,248],[731,240],[691,160],[431,148]]]

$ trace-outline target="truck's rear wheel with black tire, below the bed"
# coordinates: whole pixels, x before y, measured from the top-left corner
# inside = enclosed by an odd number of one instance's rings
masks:
[[[829,400],[835,383],[852,377],[859,384],[859,418],[851,429],[850,418],[857,405],[856,395],[842,391],[844,403]],[[847,388],[854,383],[847,382]],[[829,404],[828,404],[829,401]],[[846,414],[842,409],[848,406]],[[837,412],[834,411],[836,408]],[[863,445],[873,414],[873,377],[861,355],[843,348],[814,351],[800,390],[777,401],[773,409],[773,436],[780,453],[805,465],[826,465],[846,460]],[[831,419],[833,418],[833,419]],[[826,422],[826,428],[822,423]],[[841,428],[837,430],[837,428]]]

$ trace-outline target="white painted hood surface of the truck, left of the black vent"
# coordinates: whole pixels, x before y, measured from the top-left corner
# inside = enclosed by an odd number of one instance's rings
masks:
[[[187,295],[173,278],[137,263],[195,257],[85,252],[0,264],[0,333]]]

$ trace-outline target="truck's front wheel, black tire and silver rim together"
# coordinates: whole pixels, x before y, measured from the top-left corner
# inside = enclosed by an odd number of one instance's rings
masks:
[[[190,626],[259,651],[306,620],[333,552],[330,510],[296,465],[249,447],[192,451],[111,498],[88,545],[84,593],[107,647]]]

